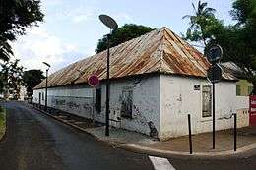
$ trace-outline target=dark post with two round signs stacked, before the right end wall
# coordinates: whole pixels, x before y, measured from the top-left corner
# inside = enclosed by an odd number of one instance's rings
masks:
[[[213,149],[215,149],[215,84],[222,79],[222,68],[218,65],[223,57],[220,45],[213,46],[207,53],[207,60],[212,64],[207,71],[207,78],[213,84]]]

